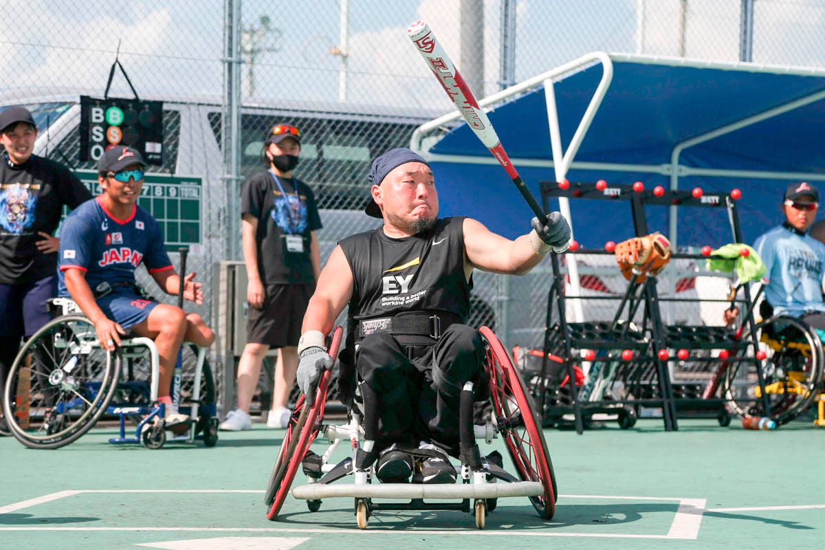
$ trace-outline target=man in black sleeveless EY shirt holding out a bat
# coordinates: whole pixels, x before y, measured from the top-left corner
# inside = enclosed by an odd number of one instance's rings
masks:
[[[525,274],[551,247],[566,249],[570,228],[554,212],[511,241],[474,219],[439,219],[433,173],[407,148],[375,158],[369,181],[366,214],[384,225],[329,256],[304,316],[299,388],[312,402],[333,362],[325,335],[348,305],[339,389],[347,404],[363,399],[356,472],[375,465],[383,483],[454,483],[448,455],[466,463],[472,450],[460,441],[462,389],[473,383],[475,401],[490,397],[482,337],[464,324],[473,270]]]

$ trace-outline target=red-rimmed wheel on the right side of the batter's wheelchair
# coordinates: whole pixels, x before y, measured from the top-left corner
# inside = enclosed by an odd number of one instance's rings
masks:
[[[507,451],[521,480],[540,482],[544,487],[543,495],[529,498],[540,517],[552,519],[558,493],[553,463],[535,406],[501,341],[488,327],[481,327],[479,331],[487,348],[487,368],[492,389],[490,398],[497,430],[507,444]]]

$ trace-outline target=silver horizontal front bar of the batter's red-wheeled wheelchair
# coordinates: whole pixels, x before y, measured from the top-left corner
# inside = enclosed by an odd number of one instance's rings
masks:
[[[498,498],[502,496],[540,496],[544,486],[540,482],[514,483],[368,483],[324,485],[309,483],[292,490],[298,499],[316,501],[322,498],[347,496],[350,498],[410,498],[410,499],[464,499]]]

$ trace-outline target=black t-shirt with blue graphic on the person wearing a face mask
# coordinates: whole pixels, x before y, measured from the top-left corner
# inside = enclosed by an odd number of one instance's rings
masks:
[[[258,219],[257,263],[263,284],[314,284],[309,257],[311,232],[322,228],[315,195],[293,178],[279,178],[281,193],[271,172],[247,178],[241,195],[241,213]],[[303,251],[289,251],[287,236],[303,238]]]

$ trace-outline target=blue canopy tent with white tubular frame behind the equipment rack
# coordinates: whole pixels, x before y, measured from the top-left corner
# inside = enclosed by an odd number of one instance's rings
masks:
[[[790,182],[825,192],[825,70],[596,52],[479,104],[537,198],[539,181],[565,177],[642,181],[647,189],[738,188],[743,240],[753,242],[780,222]],[[436,172],[442,215],[469,214],[508,237],[526,233],[533,214],[460,122],[456,111],[413,134],[412,148]],[[607,204],[558,207],[577,241],[601,247],[633,231],[629,209]],[[730,242],[726,218],[693,210],[652,208],[648,225],[678,245]]]

